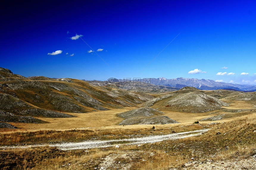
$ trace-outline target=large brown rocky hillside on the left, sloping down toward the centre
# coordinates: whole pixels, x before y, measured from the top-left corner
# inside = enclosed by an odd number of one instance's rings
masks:
[[[70,113],[135,106],[154,98],[76,79],[28,79],[4,68],[0,68],[0,75],[0,110],[16,115],[72,117]]]

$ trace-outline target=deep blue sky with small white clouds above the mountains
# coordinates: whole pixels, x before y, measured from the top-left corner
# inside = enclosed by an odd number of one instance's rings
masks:
[[[255,1],[1,2],[0,67],[26,77],[256,85],[255,18]]]

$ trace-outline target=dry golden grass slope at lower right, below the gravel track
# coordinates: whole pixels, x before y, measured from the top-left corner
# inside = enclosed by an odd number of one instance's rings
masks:
[[[155,155],[133,164],[133,169],[181,168],[190,161],[247,158],[256,154],[256,113],[221,123],[201,136],[144,144],[143,150],[146,148]]]

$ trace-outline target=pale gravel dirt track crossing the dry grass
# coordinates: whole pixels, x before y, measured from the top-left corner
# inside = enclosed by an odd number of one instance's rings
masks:
[[[208,131],[209,129],[202,129],[196,131],[188,131],[188,132],[180,132],[180,133],[173,133],[167,135],[152,135],[140,138],[129,138],[129,139],[116,139],[116,140],[94,140],[94,141],[84,141],[84,142],[63,142],[63,143],[51,143],[51,144],[38,144],[38,145],[22,145],[22,146],[4,146],[0,147],[1,149],[5,148],[26,148],[26,147],[36,147],[36,146],[51,146],[57,147],[61,150],[74,150],[74,149],[87,149],[87,148],[95,148],[95,147],[109,147],[109,146],[116,146],[122,144],[140,144],[140,143],[154,143],[163,140],[172,140],[172,139],[179,139],[185,138],[189,136],[196,136],[200,135],[203,132]]]

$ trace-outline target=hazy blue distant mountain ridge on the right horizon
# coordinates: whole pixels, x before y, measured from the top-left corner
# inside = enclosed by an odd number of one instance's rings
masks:
[[[183,88],[186,86],[195,87],[201,90],[217,90],[217,89],[235,89],[235,90],[246,90],[246,91],[255,91],[255,85],[239,85],[232,83],[216,82],[214,80],[206,79],[190,79],[190,78],[176,78],[176,79],[166,79],[164,77],[159,78],[148,78],[142,79],[142,82],[149,82],[154,85],[165,85],[176,88]]]

